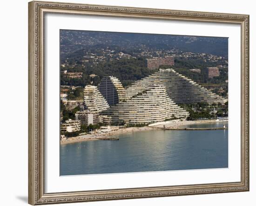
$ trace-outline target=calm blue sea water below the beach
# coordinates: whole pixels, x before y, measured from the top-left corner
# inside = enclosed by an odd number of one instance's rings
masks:
[[[190,127],[222,127],[225,123]],[[228,130],[154,130],[61,145],[60,175],[228,167]]]

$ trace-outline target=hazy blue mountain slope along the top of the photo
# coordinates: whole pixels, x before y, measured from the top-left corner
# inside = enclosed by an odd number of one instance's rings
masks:
[[[61,53],[101,46],[125,49],[178,49],[183,52],[208,53],[228,58],[228,38],[178,36],[147,33],[118,33],[61,30]]]

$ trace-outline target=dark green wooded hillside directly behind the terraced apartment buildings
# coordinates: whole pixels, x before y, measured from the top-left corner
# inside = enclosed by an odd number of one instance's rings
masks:
[[[77,57],[78,58],[78,57]],[[69,60],[71,61],[71,60]],[[74,63],[73,61],[71,61]],[[105,76],[113,75],[117,77],[124,87],[129,86],[136,80],[140,80],[152,73],[155,73],[156,70],[151,70],[145,67],[145,58],[129,58],[121,60],[108,60],[105,62],[99,62],[94,64],[89,61],[87,63],[82,63],[80,60],[75,61],[76,66],[65,66],[62,68],[68,72],[82,72],[81,79],[68,78],[67,75],[61,73],[61,85],[67,86],[81,86],[82,88],[86,85],[92,84],[98,86],[100,80]],[[218,64],[225,64],[222,61],[219,61]],[[71,63],[70,63],[71,65]],[[228,84],[225,80],[228,79],[228,69],[220,68],[220,76],[214,78],[208,78],[207,67],[216,66],[216,62],[205,62],[203,59],[175,59],[175,66],[171,66],[175,69],[176,72],[189,77],[197,83],[205,84],[206,86],[212,86],[216,90],[215,93],[222,95],[223,97],[227,96],[228,93]],[[160,66],[160,68],[169,68],[170,66]],[[192,72],[189,69],[201,69],[201,73]],[[94,77],[90,77],[90,74],[95,74]],[[220,93],[218,89],[222,86],[224,92]],[[81,90],[81,89],[80,89]],[[68,100],[79,100],[81,99],[81,92],[71,92],[68,94]],[[79,94],[80,93],[80,94]]]

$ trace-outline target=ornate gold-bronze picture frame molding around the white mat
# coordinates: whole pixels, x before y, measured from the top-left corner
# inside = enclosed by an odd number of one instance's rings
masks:
[[[44,14],[182,20],[241,26],[241,181],[45,193]],[[249,15],[32,1],[28,3],[28,203],[31,205],[249,191]]]

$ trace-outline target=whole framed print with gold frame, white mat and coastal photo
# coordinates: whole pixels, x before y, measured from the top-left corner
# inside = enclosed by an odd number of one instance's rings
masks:
[[[28,7],[29,204],[249,191],[249,15]]]

